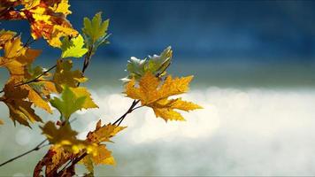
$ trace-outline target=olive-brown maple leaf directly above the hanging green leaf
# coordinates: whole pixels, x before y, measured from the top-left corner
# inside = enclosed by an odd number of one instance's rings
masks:
[[[80,70],[71,71],[73,67],[72,60],[58,59],[56,72],[52,81],[56,83],[58,92],[62,91],[62,86],[75,88],[79,82],[87,81],[88,79],[83,76]]]

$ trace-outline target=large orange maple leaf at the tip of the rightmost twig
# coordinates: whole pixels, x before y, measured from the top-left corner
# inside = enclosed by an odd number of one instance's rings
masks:
[[[126,95],[133,99],[139,99],[142,105],[153,109],[157,117],[167,120],[184,120],[181,113],[174,110],[192,111],[202,107],[191,102],[182,101],[181,98],[167,99],[188,91],[188,84],[193,76],[175,78],[167,76],[162,83],[152,73],[145,73],[136,87],[136,81],[132,79],[126,85]],[[162,85],[161,85],[162,84]]]

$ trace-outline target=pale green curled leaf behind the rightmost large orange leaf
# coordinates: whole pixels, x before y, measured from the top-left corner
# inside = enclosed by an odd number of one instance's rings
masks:
[[[128,75],[126,78],[121,79],[121,81],[130,81],[132,78],[139,81],[144,73],[148,72],[160,76],[165,75],[166,68],[172,62],[172,54],[173,50],[169,46],[160,55],[153,55],[144,59],[130,58],[127,64]]]

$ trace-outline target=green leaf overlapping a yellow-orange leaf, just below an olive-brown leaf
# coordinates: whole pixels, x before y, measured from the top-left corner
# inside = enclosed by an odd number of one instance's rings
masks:
[[[87,96],[75,96],[71,89],[65,87],[61,93],[61,99],[54,97],[50,100],[50,104],[58,109],[63,118],[69,119],[73,112],[84,107],[86,98]]]

